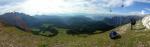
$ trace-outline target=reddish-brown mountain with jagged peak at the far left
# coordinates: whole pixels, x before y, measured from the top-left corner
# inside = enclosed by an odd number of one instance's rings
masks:
[[[25,17],[29,17],[29,15],[26,15],[24,13],[19,13],[19,12],[9,12],[9,13],[0,15],[0,20],[4,21],[5,23],[9,25],[13,25],[20,29],[28,31],[29,28],[28,28],[27,23],[24,20]]]

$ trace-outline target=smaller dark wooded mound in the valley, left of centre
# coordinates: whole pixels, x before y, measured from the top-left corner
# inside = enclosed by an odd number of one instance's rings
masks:
[[[39,29],[33,29],[32,33],[35,35],[51,37],[57,35],[58,31],[53,26],[44,24]]]

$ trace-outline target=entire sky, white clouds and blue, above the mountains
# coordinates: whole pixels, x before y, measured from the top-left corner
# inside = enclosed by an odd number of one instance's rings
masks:
[[[150,0],[0,0],[0,14],[150,14]]]

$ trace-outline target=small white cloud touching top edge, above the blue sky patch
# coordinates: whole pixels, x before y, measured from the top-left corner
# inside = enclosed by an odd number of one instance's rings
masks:
[[[125,7],[128,7],[134,3],[134,0],[101,0],[100,6],[103,7],[121,7],[124,5]]]

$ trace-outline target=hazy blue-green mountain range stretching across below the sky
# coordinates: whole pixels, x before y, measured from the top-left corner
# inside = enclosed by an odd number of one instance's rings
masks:
[[[141,16],[120,16],[113,15],[107,16],[103,15],[76,15],[76,16],[57,16],[57,15],[38,15],[30,16],[19,12],[10,12],[0,15],[0,20],[5,23],[23,29],[25,31],[30,31],[33,27],[40,27],[42,24],[51,24],[59,28],[72,28],[72,27],[82,27],[84,25],[96,27],[100,30],[106,29],[108,27],[115,28],[120,25],[130,23],[131,18],[136,20],[142,19]]]

